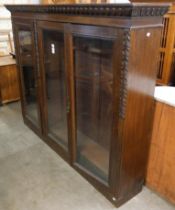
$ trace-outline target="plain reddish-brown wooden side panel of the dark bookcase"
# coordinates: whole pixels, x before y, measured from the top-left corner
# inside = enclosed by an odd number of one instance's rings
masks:
[[[160,30],[160,27],[131,30],[120,174],[121,200],[138,193],[145,178]],[[150,59],[150,52],[153,59]]]

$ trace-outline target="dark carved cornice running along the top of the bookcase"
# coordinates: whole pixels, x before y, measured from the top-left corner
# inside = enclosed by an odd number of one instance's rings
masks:
[[[6,5],[11,12],[55,13],[81,16],[147,17],[163,16],[169,8],[164,4],[67,4]]]

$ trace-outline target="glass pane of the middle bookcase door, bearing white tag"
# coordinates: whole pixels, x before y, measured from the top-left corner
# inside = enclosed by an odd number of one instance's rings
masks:
[[[52,139],[67,148],[68,131],[64,35],[61,32],[45,30],[43,36],[48,131]]]

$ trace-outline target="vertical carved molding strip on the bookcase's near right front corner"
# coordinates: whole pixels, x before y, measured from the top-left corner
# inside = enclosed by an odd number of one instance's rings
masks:
[[[119,117],[124,119],[127,105],[127,86],[128,86],[128,61],[130,50],[130,29],[125,29],[122,40],[122,61],[120,73],[120,102]]]

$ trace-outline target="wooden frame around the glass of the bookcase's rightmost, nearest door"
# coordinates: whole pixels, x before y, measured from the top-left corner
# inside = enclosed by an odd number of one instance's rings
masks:
[[[119,170],[121,154],[121,130],[122,123],[119,117],[120,102],[120,76],[121,76],[121,51],[123,30],[117,28],[107,28],[103,26],[88,25],[65,25],[65,39],[67,47],[67,73],[69,75],[69,94],[70,94],[70,125],[71,125],[71,165],[82,174],[89,182],[103,192],[110,200],[117,196],[119,192]],[[99,38],[114,41],[113,49],[113,123],[111,128],[110,158],[109,158],[109,179],[108,183],[104,182],[91,172],[76,163],[76,108],[75,108],[75,79],[74,79],[74,54],[73,54],[73,37]],[[117,53],[116,53],[117,52]],[[118,179],[118,180],[117,180]]]

